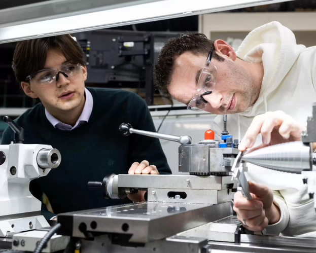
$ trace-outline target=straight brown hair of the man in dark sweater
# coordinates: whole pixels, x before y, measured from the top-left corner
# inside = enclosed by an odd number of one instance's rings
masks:
[[[17,43],[12,68],[18,82],[44,68],[47,52],[59,49],[67,61],[86,65],[80,45],[69,34],[40,38]]]

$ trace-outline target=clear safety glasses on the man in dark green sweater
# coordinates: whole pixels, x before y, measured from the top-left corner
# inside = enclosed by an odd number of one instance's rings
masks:
[[[58,82],[59,74],[69,78],[80,73],[82,65],[80,63],[66,62],[56,68],[47,68],[37,71],[36,73],[26,77],[26,81],[34,81],[36,83],[47,85],[53,82]]]

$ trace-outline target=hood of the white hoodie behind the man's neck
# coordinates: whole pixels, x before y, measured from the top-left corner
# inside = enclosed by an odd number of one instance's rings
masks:
[[[269,110],[267,96],[279,86],[303,49],[305,46],[296,44],[294,33],[279,22],[262,25],[247,35],[236,54],[248,62],[262,62],[264,76],[257,101],[240,116],[252,117]]]

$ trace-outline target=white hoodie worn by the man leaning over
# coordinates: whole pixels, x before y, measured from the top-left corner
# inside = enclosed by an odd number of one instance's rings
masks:
[[[256,115],[278,110],[306,124],[316,101],[316,47],[297,45],[291,30],[271,22],[251,31],[236,53],[246,61],[262,62],[264,76],[255,104],[242,113],[228,115],[229,133],[240,140]],[[220,133],[223,116],[217,116],[214,125]],[[261,135],[254,147],[260,143]],[[316,212],[302,176],[250,164],[248,168],[250,180],[275,191],[274,202],[281,210],[280,221],[269,225],[267,232],[316,237]]]

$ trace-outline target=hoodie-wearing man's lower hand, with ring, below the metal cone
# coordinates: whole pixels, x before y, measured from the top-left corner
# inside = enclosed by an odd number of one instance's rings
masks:
[[[263,231],[268,224],[277,223],[280,220],[280,210],[273,203],[273,193],[268,187],[249,182],[249,191],[253,200],[242,197],[240,192],[235,193],[234,211],[237,218],[248,230]],[[244,221],[243,221],[244,220]]]

